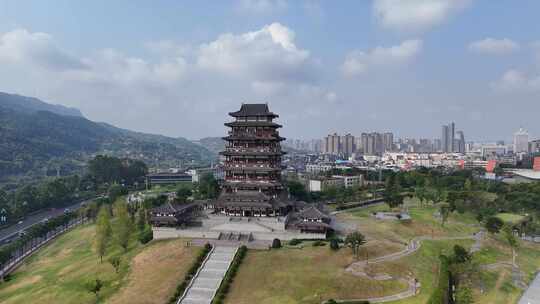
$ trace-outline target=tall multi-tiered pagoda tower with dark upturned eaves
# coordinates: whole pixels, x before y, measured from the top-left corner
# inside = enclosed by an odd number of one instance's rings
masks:
[[[242,104],[229,113],[225,151],[225,181],[216,209],[236,216],[279,216],[290,211],[281,183],[281,125],[267,104]]]

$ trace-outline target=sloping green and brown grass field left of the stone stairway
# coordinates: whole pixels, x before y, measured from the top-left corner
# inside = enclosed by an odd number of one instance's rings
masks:
[[[182,240],[142,246],[133,239],[126,253],[111,245],[100,263],[93,250],[94,234],[94,225],[76,228],[30,257],[10,281],[0,285],[0,303],[33,303],[37,299],[55,304],[95,303],[96,297],[86,287],[95,278],[104,283],[101,301],[163,303],[196,250],[184,248]],[[122,259],[118,273],[107,262],[113,255]]]

